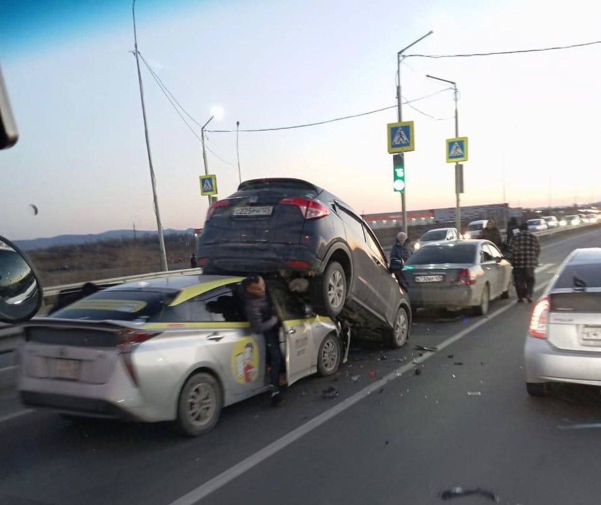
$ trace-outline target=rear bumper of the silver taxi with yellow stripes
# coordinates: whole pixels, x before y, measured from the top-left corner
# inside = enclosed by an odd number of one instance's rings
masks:
[[[26,407],[76,416],[157,422],[175,419],[173,405],[152,405],[123,366],[115,366],[106,384],[36,378],[19,370],[19,395]]]

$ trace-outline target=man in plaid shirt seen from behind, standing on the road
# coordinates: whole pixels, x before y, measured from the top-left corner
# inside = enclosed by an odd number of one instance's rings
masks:
[[[511,241],[510,250],[517,301],[522,303],[523,298],[526,298],[528,303],[532,303],[534,268],[538,266],[540,244],[538,238],[528,232],[526,223],[520,225],[520,232]]]

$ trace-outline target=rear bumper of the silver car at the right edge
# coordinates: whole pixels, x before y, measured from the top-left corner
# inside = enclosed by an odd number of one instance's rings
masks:
[[[549,340],[526,337],[526,382],[589,384],[601,386],[601,352],[566,351]]]

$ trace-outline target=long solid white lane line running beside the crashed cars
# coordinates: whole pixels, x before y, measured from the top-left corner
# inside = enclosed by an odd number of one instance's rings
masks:
[[[551,266],[553,265],[549,265],[549,267]],[[537,286],[535,286],[534,291],[539,291],[540,289],[544,288],[546,284],[547,282],[538,284]],[[438,351],[441,351],[442,349],[450,346],[452,343],[457,342],[457,340],[461,339],[462,337],[465,337],[468,333],[477,330],[477,328],[480,328],[482,325],[486,324],[487,322],[491,321],[497,316],[500,316],[502,313],[509,310],[515,304],[517,304],[517,300],[511,301],[510,303],[501,307],[500,309],[495,310],[495,312],[493,312],[489,316],[482,318],[475,324],[472,324],[468,328],[465,328],[465,330],[462,330],[459,333],[454,334],[452,337],[449,337],[447,340],[444,340],[444,342],[439,343],[436,346],[438,348]],[[415,360],[413,360],[412,363],[407,363],[403,366],[398,367],[396,370],[393,370],[392,372],[388,373],[388,375],[383,376],[381,379],[375,381],[370,386],[367,386],[361,391],[356,392],[353,396],[350,396],[340,404],[329,408],[328,410],[319,414],[319,416],[314,417],[304,425],[293,429],[293,431],[289,432],[281,438],[278,438],[278,440],[270,443],[268,446],[263,447],[263,449],[259,450],[258,452],[255,452],[251,456],[248,456],[248,458],[243,459],[233,467],[228,468],[228,470],[225,470],[224,472],[220,473],[218,476],[213,477],[213,479],[207,480],[207,482],[205,482],[204,484],[201,484],[197,488],[192,489],[192,491],[183,495],[180,498],[177,498],[177,500],[172,501],[172,503],[170,503],[169,505],[194,505],[198,501],[210,495],[213,491],[217,491],[219,488],[222,488],[226,484],[230,483],[232,480],[241,476],[246,471],[251,470],[251,468],[254,468],[261,462],[265,461],[267,458],[273,456],[275,453],[281,451],[293,442],[299,440],[299,438],[304,437],[304,435],[307,435],[314,429],[319,428],[319,426],[332,419],[332,417],[337,416],[338,414],[347,410],[347,408],[352,407],[357,402],[366,398],[368,395],[371,395],[371,393],[380,389],[389,381],[395,380],[403,373],[406,373],[409,370],[415,368],[416,364],[423,363],[435,354],[435,352],[424,352],[422,356],[415,358]]]

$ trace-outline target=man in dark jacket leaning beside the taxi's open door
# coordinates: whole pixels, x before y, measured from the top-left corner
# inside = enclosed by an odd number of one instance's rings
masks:
[[[282,401],[279,391],[279,370],[282,366],[282,354],[279,350],[279,327],[281,323],[273,311],[267,297],[265,280],[258,275],[250,275],[242,281],[244,291],[244,310],[251,324],[252,333],[263,333],[267,363],[271,367],[271,401],[278,405]]]

